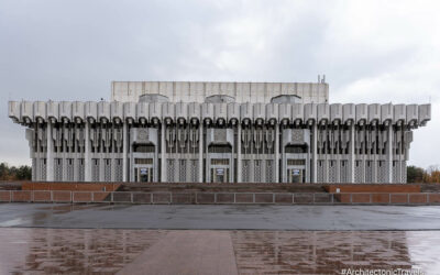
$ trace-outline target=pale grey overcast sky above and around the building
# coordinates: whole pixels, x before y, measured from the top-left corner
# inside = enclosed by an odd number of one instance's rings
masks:
[[[317,81],[330,102],[432,103],[409,164],[440,164],[439,1],[0,1],[0,162],[30,164],[8,100],[111,80]]]

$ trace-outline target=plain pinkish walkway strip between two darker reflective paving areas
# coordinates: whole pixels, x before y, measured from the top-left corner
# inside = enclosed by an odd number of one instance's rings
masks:
[[[118,274],[238,274],[229,232],[170,231]]]

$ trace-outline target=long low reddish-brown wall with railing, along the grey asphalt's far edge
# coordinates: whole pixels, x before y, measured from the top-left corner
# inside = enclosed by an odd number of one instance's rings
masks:
[[[0,202],[103,202],[147,205],[440,205],[440,194],[0,190]]]

